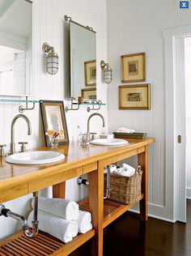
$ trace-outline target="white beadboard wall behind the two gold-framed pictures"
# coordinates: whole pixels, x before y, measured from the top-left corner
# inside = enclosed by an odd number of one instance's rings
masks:
[[[108,0],[108,129],[126,126],[155,137],[150,147],[149,213],[165,219],[165,109],[163,30],[191,23],[191,10],[175,0]],[[146,82],[151,83],[151,110],[119,110],[121,55],[146,53]],[[133,84],[133,83],[132,83]],[[136,84],[136,83],[135,83]],[[167,85],[168,86],[168,85]],[[113,120],[115,117],[115,121]],[[168,170],[166,170],[168,172]]]

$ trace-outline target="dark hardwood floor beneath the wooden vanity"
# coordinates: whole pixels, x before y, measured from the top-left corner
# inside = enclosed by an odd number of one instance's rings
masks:
[[[70,256],[91,255],[91,241]],[[104,229],[104,256],[191,256],[191,200],[187,224],[168,223],[127,212]]]

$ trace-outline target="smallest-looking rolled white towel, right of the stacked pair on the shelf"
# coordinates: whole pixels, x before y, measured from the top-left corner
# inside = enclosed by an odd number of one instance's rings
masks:
[[[91,213],[79,210],[79,219],[76,222],[79,224],[79,233],[87,233],[92,228]]]

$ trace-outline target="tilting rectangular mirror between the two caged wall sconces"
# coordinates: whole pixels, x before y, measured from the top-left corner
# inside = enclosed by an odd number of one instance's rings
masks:
[[[85,93],[84,92],[90,93]],[[70,96],[96,100],[96,32],[70,21]]]

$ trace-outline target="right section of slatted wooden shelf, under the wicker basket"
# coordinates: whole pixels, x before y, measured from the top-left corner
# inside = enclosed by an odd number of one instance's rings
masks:
[[[108,224],[112,223],[113,220],[116,220],[119,216],[121,216],[125,211],[128,211],[131,207],[134,207],[144,195],[141,195],[141,198],[132,203],[132,204],[123,204],[117,203],[112,200],[106,199],[104,200],[104,228],[108,226]],[[90,211],[88,198],[81,200],[79,202],[79,209],[82,211]]]

